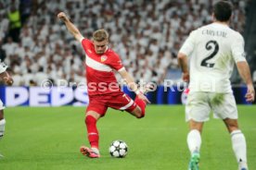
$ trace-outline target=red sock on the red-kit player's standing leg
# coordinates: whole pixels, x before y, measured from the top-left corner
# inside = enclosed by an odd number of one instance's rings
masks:
[[[91,148],[98,148],[99,137],[96,129],[96,118],[92,115],[87,115],[85,125],[87,127],[88,140],[91,144]]]

